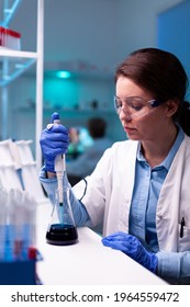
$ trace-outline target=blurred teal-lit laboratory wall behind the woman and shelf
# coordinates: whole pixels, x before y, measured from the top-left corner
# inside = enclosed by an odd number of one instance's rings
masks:
[[[36,49],[37,1],[22,0],[10,26],[21,49]],[[3,0],[0,1],[1,19]],[[107,136],[125,139],[113,107],[114,69],[132,50],[175,53],[190,75],[189,0],[45,0],[43,127],[54,111],[68,128],[87,129],[91,117],[107,122]],[[32,139],[35,152],[35,69],[9,86],[7,127],[0,139]],[[3,86],[0,87],[3,95]],[[2,116],[2,103],[0,114]]]

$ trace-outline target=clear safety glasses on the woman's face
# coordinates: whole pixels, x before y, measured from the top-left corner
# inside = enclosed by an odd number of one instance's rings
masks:
[[[122,101],[114,95],[114,109],[116,113],[120,115],[121,111],[123,111],[128,118],[145,116],[160,104],[161,102],[156,99],[146,101],[139,96],[128,96]]]

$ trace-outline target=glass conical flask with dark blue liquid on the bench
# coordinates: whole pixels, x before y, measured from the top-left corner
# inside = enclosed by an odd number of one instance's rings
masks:
[[[69,201],[68,185],[64,186],[63,193],[63,202],[59,203],[58,190],[55,191],[55,204],[46,232],[46,242],[49,245],[69,246],[78,242],[77,228]]]

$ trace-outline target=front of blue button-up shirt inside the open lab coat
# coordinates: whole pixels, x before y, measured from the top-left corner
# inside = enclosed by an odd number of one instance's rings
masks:
[[[159,193],[183,138],[185,133],[179,127],[176,141],[168,156],[159,166],[154,168],[150,168],[143,157],[141,143],[138,144],[135,184],[130,212],[130,234],[137,237],[154,252],[159,250],[156,234],[156,208]]]

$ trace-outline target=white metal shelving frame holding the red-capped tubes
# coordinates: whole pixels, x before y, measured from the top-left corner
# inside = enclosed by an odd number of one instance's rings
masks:
[[[23,0],[24,1],[24,0]],[[8,0],[3,0],[3,22],[0,24],[9,27],[9,23],[14,18],[22,0],[13,0],[12,5]],[[0,72],[0,87],[2,87],[2,138],[8,137],[8,86],[19,76],[36,64],[36,125],[35,125],[35,160],[37,169],[42,166],[42,152],[38,145],[40,135],[43,127],[43,68],[44,68],[44,0],[37,0],[37,27],[36,27],[36,52],[13,50],[0,48],[0,61],[2,70]]]

